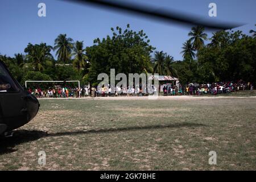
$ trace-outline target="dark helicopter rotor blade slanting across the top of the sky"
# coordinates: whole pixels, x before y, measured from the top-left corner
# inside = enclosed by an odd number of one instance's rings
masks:
[[[208,20],[203,20],[200,16],[195,16],[191,14],[179,13],[174,10],[160,10],[155,11],[152,7],[139,6],[134,3],[124,3],[117,1],[104,1],[104,0],[65,0],[69,2],[77,2],[81,4],[88,4],[94,6],[100,6],[105,8],[111,8],[115,10],[122,10],[128,13],[136,13],[143,16],[149,16],[150,18],[156,18],[160,20],[165,20],[167,22],[183,24],[183,26],[203,26],[209,29],[218,30],[228,30],[242,26],[241,23],[229,23],[229,22],[213,22]]]

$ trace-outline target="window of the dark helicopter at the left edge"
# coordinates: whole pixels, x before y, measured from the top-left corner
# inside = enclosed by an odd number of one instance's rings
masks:
[[[9,75],[6,68],[0,63],[0,92],[17,92],[19,91],[13,78]]]

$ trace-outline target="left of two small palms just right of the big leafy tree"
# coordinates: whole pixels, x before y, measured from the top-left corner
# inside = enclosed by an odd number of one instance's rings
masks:
[[[166,53],[164,53],[163,51],[159,52],[156,51],[155,55],[154,55],[154,73],[158,73],[159,75],[164,75],[165,72],[165,65],[164,62],[166,60]]]

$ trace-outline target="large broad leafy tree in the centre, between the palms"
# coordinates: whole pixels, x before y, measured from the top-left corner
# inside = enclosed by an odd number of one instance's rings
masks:
[[[122,31],[121,27],[111,28],[113,35],[94,40],[94,45],[86,48],[90,61],[88,81],[97,82],[100,73],[147,73],[152,72],[150,53],[155,49],[143,30],[130,30],[129,24]]]

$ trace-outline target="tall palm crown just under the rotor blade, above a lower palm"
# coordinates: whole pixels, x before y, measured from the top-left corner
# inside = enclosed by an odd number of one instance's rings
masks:
[[[207,40],[207,34],[204,33],[204,27],[192,27],[188,36],[192,36],[189,40],[193,43],[193,48],[197,51],[204,46],[204,40]]]

